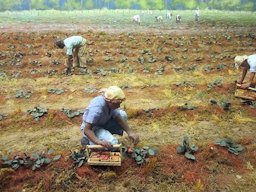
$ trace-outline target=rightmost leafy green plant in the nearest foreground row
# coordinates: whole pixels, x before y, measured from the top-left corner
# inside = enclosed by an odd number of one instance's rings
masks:
[[[221,147],[227,148],[230,153],[233,153],[235,155],[239,155],[239,153],[244,150],[244,147],[242,145],[236,144],[231,138],[218,138],[216,140],[216,144],[220,145]]]

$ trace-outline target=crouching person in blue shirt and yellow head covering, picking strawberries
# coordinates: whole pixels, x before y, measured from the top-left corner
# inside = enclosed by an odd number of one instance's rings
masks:
[[[120,109],[124,100],[125,94],[117,86],[102,89],[101,95],[91,100],[85,109],[81,125],[83,146],[96,144],[111,148],[118,143],[113,134],[123,135],[124,131],[133,143],[139,142],[139,136],[127,124],[126,112]]]

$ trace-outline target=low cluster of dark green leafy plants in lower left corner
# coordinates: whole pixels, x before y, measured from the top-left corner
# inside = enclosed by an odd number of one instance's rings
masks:
[[[51,149],[48,151],[50,154]],[[50,164],[52,161],[57,161],[61,158],[61,155],[56,155],[53,159],[46,156],[45,153],[33,153],[32,156],[28,156],[24,153],[24,156],[16,155],[13,159],[9,159],[7,156],[2,157],[3,166],[11,167],[17,170],[21,167],[31,168],[33,171]]]

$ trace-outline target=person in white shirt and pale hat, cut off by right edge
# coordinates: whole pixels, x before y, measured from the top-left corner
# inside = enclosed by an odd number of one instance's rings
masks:
[[[241,85],[242,89],[246,89],[253,84],[253,79],[256,73],[256,54],[255,55],[243,55],[243,56],[236,56],[235,57],[235,66],[238,69],[239,67],[242,68],[242,77],[237,82]],[[249,81],[244,82],[245,76],[247,71],[249,70]]]

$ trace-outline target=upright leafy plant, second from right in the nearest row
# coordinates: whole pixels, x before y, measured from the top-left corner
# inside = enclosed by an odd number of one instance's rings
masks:
[[[187,136],[183,137],[182,145],[179,145],[176,149],[178,154],[184,154],[187,159],[196,160],[195,156],[193,155],[196,151],[198,151],[198,147],[196,145],[189,144],[189,139]]]

